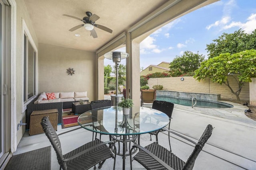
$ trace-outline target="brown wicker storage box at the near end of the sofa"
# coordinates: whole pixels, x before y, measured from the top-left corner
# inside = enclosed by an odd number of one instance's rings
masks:
[[[33,111],[30,115],[30,128],[29,134],[35,135],[38,133],[44,133],[41,121],[44,116],[48,116],[52,126],[57,130],[58,124],[58,109],[49,109],[49,110],[38,110]]]

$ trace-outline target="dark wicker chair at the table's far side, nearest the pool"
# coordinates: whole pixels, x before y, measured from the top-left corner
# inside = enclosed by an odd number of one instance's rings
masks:
[[[162,111],[163,113],[168,115],[170,121],[172,119],[173,108],[174,108],[174,104],[172,102],[166,102],[166,101],[160,101],[160,100],[155,100],[153,105],[152,105],[152,109],[156,109],[156,110]],[[169,121],[169,124],[168,124],[168,129],[169,130],[170,130],[170,121]],[[165,130],[161,129],[160,131],[165,131]],[[156,142],[158,142],[158,133],[160,131],[151,132],[150,133],[150,141],[152,141],[151,135],[156,135]],[[170,143],[170,132],[168,132],[168,139],[169,139],[170,151],[172,151],[171,143]]]

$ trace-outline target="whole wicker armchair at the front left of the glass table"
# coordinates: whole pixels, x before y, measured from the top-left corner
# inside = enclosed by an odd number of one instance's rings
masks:
[[[94,169],[96,169],[95,165],[98,163],[100,163],[98,168],[101,168],[106,159],[108,158],[114,158],[113,169],[115,169],[116,148],[114,143],[112,143],[111,141],[102,142],[99,139],[96,139],[63,155],[60,139],[58,138],[58,136],[64,133],[57,135],[48,117],[42,118],[41,125],[57,154],[60,169],[87,170],[92,166],[94,166]],[[109,144],[110,147],[114,147],[114,154],[106,144]]]

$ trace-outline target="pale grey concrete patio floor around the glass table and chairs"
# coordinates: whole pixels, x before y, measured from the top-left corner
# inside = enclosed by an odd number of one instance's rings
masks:
[[[246,107],[234,104],[234,108],[228,109],[204,109],[198,107],[187,107],[175,105],[171,129],[197,141],[208,124],[214,127],[212,136],[200,152],[194,170],[240,170],[256,169],[256,121],[244,115]],[[58,125],[57,133],[70,130],[75,127],[62,129]],[[171,135],[171,146],[174,154],[186,162],[194,149],[193,144],[181,139],[176,135]],[[159,134],[159,144],[169,148],[167,133]],[[152,137],[155,141],[155,137]],[[78,129],[72,133],[60,136],[62,152],[65,154],[80,145],[92,140],[92,132],[85,129]],[[102,141],[107,141],[108,135],[102,135]],[[141,135],[140,145],[146,146],[152,143],[150,135]],[[38,134],[29,136],[28,132],[22,137],[18,148],[14,154],[20,154],[34,149],[50,146],[46,135]],[[59,165],[56,154],[52,148],[51,169],[58,170]],[[91,168],[93,169],[93,168]],[[106,160],[102,170],[113,169],[113,160]],[[122,157],[116,158],[116,170],[122,169]],[[126,169],[130,169],[130,158],[126,157]],[[133,169],[144,169],[136,161],[133,162]]]

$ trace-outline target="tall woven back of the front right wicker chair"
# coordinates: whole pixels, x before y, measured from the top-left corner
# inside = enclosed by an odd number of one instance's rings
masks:
[[[212,135],[212,125],[207,125],[204,133],[202,134],[201,138],[199,139],[198,143],[196,144],[192,154],[189,156],[187,162],[184,164],[182,170],[192,170],[196,161],[198,154],[201,152],[204,144]]]

